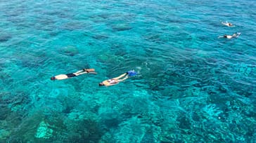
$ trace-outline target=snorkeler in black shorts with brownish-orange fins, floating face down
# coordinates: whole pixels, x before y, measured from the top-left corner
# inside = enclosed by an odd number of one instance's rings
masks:
[[[59,74],[57,76],[53,76],[53,77],[51,77],[51,80],[53,81],[53,80],[70,79],[72,77],[79,76],[81,74],[97,74],[97,73],[95,72],[95,69],[82,69],[75,73]]]

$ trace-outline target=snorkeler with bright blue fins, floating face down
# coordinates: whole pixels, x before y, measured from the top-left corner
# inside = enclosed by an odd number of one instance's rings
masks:
[[[101,83],[98,83],[98,86],[113,86],[117,83],[120,83],[121,81],[124,81],[125,79],[128,79],[130,76],[136,76],[136,71],[128,71],[127,73],[121,74],[120,76],[105,80]]]

